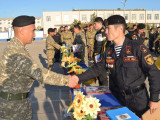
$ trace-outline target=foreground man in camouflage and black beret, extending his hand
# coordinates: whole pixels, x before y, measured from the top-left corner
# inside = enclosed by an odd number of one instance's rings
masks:
[[[0,120],[31,120],[32,108],[28,98],[37,80],[50,85],[70,86],[71,76],[41,69],[25,49],[35,37],[35,18],[19,16],[13,20],[15,37],[0,58]]]

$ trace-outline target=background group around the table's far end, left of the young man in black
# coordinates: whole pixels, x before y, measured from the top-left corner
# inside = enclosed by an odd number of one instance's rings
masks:
[[[72,46],[81,44],[81,51],[78,51],[78,54],[82,59],[82,62],[84,62],[88,66],[88,57],[91,60],[93,54],[93,45],[96,30],[94,29],[93,24],[89,25],[88,30],[86,30],[85,28],[82,29],[81,26],[77,24],[74,25],[74,28],[71,30],[68,29],[68,26],[61,26],[59,32],[57,31],[57,28],[48,29],[48,37],[46,38],[46,50],[49,70],[53,68],[54,56],[54,62],[60,62],[60,47],[62,45],[68,45],[68,48],[71,51]]]

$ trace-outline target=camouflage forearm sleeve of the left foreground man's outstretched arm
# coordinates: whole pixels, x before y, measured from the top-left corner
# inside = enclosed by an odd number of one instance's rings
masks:
[[[69,76],[58,74],[43,68],[43,82],[50,85],[67,86]]]

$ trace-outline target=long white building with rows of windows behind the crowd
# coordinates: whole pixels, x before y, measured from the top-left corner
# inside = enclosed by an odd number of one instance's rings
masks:
[[[79,20],[87,23],[96,14],[103,19],[111,15],[122,15],[127,23],[147,23],[150,26],[160,26],[160,11],[147,11],[145,9],[129,9],[129,10],[76,10],[59,11],[59,12],[43,12],[44,34],[47,35],[48,28],[59,28],[61,25],[70,26],[73,21]]]

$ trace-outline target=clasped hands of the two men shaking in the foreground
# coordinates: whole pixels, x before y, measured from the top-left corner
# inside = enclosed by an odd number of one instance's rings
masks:
[[[68,87],[75,87],[78,84],[79,78],[76,75],[69,76]]]

